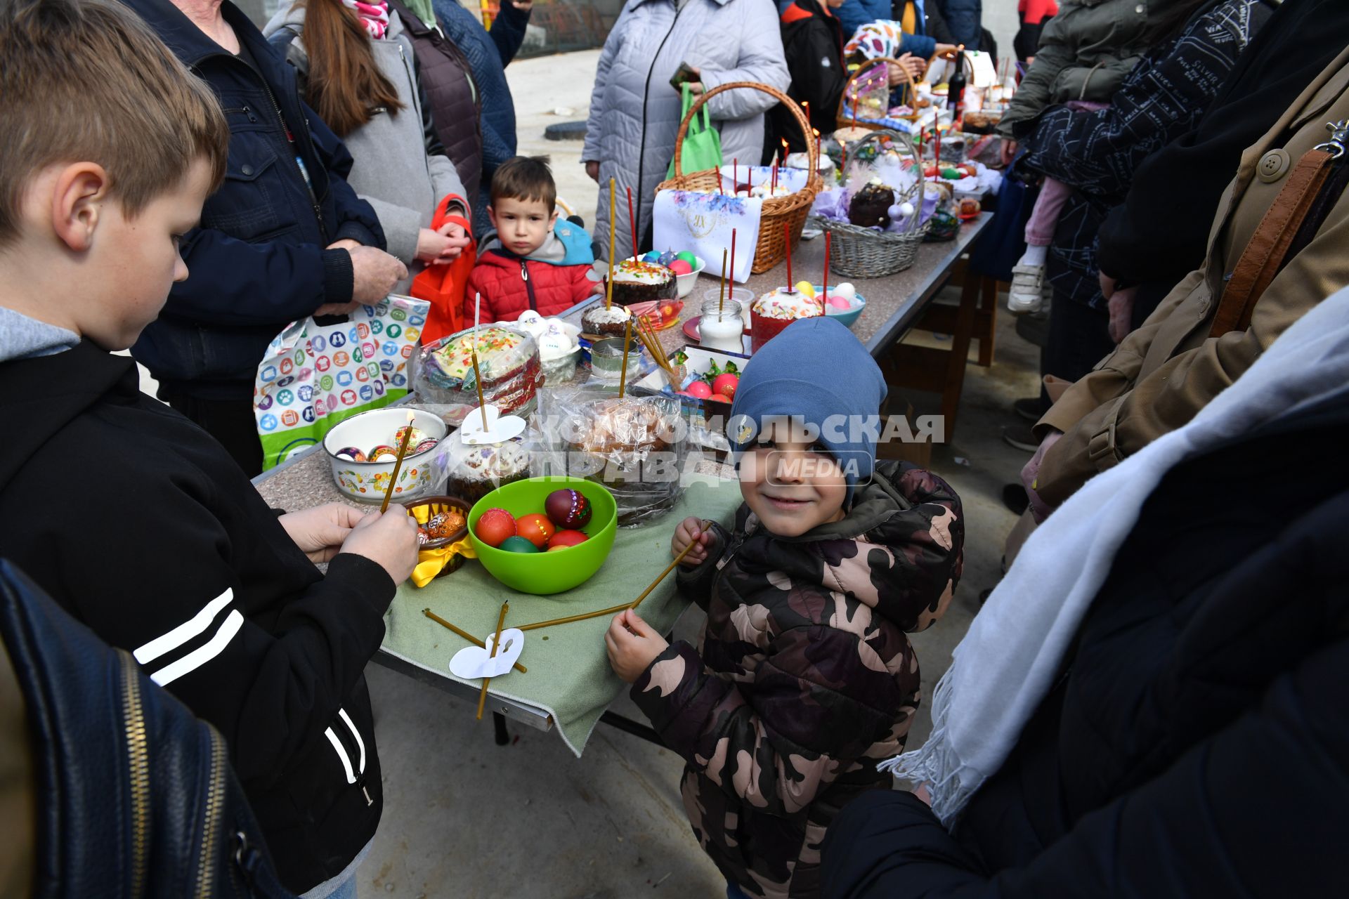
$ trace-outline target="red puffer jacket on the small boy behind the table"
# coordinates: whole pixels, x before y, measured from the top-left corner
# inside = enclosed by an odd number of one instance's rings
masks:
[[[513,322],[526,309],[557,315],[595,292],[585,276],[590,264],[560,266],[517,256],[507,249],[488,249],[468,276],[464,310],[473,317],[473,295],[482,294],[484,322]]]

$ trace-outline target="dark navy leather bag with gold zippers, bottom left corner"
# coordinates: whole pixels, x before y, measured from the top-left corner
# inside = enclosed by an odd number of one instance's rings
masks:
[[[18,685],[30,732],[28,895],[294,896],[216,729],[4,559],[0,640],[0,679],[12,681],[0,695]]]

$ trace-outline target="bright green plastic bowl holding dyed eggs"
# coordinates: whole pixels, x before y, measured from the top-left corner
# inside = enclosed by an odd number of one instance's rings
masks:
[[[544,500],[553,491],[572,488],[591,501],[590,524],[580,528],[590,536],[557,553],[507,553],[478,539],[478,519],[490,508],[503,508],[515,518],[544,512]],[[588,581],[604,565],[618,532],[618,505],[602,484],[579,477],[532,477],[500,487],[473,503],[468,512],[468,539],[478,551],[478,561],[498,581],[519,590],[548,596],[563,593]]]

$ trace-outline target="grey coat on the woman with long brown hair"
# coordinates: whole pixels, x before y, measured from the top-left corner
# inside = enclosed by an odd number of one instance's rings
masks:
[[[309,80],[309,54],[302,39],[305,9],[290,7],[272,16],[263,34],[278,44],[272,35],[289,36],[286,62],[295,66],[301,93]],[[389,252],[409,268],[409,279],[399,282],[395,291],[405,292],[411,283],[413,263],[417,256],[417,237],[430,226],[436,204],[445,195],[464,197],[455,164],[442,154],[426,152],[424,132],[424,93],[418,89],[411,39],[405,34],[398,13],[390,9],[389,31],[380,40],[371,40],[375,63],[398,90],[403,109],[397,115],[380,112],[368,123],[343,136],[355,164],[347,182],[362,199],[375,208],[379,224],[389,241]],[[437,139],[438,144],[438,139]],[[468,201],[463,201],[468,209]],[[420,271],[421,266],[417,266]]]

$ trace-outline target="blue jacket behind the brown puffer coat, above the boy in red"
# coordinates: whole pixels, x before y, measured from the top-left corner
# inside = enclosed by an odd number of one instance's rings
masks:
[[[459,0],[433,0],[436,19],[445,35],[468,58],[482,96],[483,182],[473,204],[473,233],[482,237],[491,228],[487,220],[488,189],[496,166],[515,155],[515,101],[506,82],[506,66],[525,40],[529,12],[505,0],[500,15],[486,31]]]

